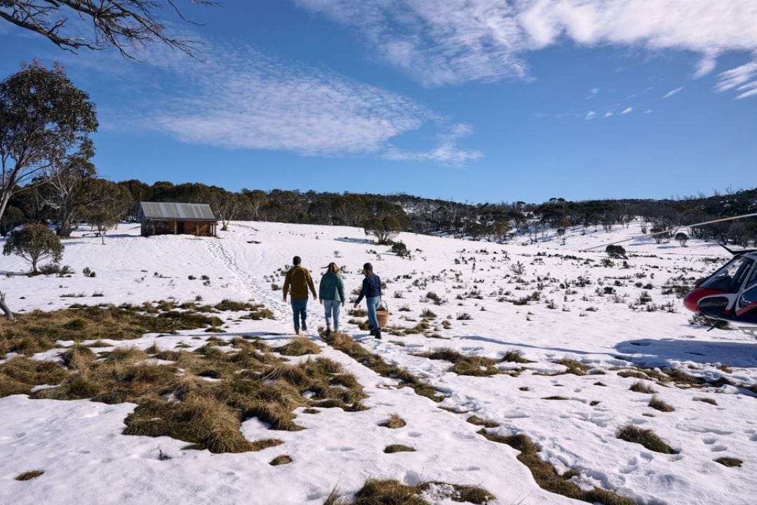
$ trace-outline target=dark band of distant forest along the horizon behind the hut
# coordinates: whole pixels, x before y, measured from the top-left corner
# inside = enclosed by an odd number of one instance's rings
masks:
[[[61,191],[61,186],[64,186]],[[229,192],[199,183],[175,185],[139,180],[107,182],[79,177],[76,184],[36,182],[16,192],[0,222],[0,233],[23,223],[55,223],[58,235],[70,235],[88,213],[107,211],[117,220],[136,220],[140,201],[207,203],[222,223],[230,220],[261,220],[281,223],[366,226],[387,223],[397,231],[454,235],[506,242],[516,234],[537,240],[547,229],[558,234],[567,229],[627,226],[634,217],[650,223],[649,232],[688,226],[719,217],[757,213],[757,189],[729,191],[712,196],[680,199],[568,201],[550,198],[540,204],[515,201],[469,204],[419,198],[413,195],[300,192],[273,189],[242,189]],[[378,226],[381,226],[379,223]],[[647,230],[642,230],[647,232]],[[708,226],[691,227],[691,236],[727,244],[757,246],[757,220],[749,218]]]

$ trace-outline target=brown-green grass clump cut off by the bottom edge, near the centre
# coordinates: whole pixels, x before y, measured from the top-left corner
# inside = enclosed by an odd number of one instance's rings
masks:
[[[444,482],[422,482],[409,486],[394,480],[369,479],[363,484],[353,500],[340,497],[334,489],[324,505],[429,505],[423,499],[425,492],[434,492],[435,497],[446,494],[447,499],[463,503],[485,505],[495,500],[493,494],[482,488],[467,485],[446,484]]]

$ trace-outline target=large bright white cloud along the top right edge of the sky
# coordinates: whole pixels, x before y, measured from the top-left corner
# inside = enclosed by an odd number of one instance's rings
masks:
[[[528,78],[525,61],[569,39],[687,50],[702,55],[757,49],[754,0],[293,0],[353,26],[382,58],[426,86]]]

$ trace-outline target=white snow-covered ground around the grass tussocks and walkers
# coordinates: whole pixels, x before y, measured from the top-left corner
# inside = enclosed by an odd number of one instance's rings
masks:
[[[503,504],[575,503],[540,489],[516,460],[516,450],[476,434],[480,426],[466,422],[471,414],[500,423],[490,433],[528,435],[539,456],[558,472],[581,472],[573,479],[582,487],[596,485],[648,504],[754,503],[757,398],[737,385],[757,385],[757,343],[741,332],[691,326],[692,314],[681,300],[662,293],[668,279],[714,271],[720,263],[712,259],[725,260],[724,251],[712,243],[690,241],[681,248],[676,242],[658,245],[640,239],[624,244],[629,254],[625,268],[623,260],[603,264],[603,248],[581,252],[637,235],[639,229],[639,223],[586,235],[575,229],[564,244],[547,235],[536,244],[522,238],[506,245],[403,233],[398,239],[412,252],[410,260],[371,244],[361,229],[347,227],[245,222],[232,223],[219,238],[142,238],[139,225],[122,224],[105,245],[99,238],[71,238],[64,242],[62,263],[73,276],[0,279],[12,310],[254,300],[273,310],[276,320],[229,322],[226,333],[217,337],[258,332],[278,345],[291,334],[291,311],[272,284],[283,284],[277,270],[291,263],[294,254],[303,258],[316,282],[329,261],[344,265],[348,292],[359,288],[360,268],[370,261],[387,284],[391,324],[416,326],[422,310],[431,310],[437,317],[428,333],[435,337],[385,333],[383,340],[375,340],[347,323],[351,306],[343,310],[342,329],[447,397],[436,404],[410,388],[394,388],[393,379],[323,344],[316,332],[324,325],[322,310],[311,300],[308,335],[323,346],[323,356],[357,377],[369,395],[364,401],[369,410],[298,414],[298,424],[306,429],[274,435],[250,419],[242,426],[246,438],[276,436],[285,443],[259,452],[210,454],[182,450],[185,442],[171,438],[121,435],[134,404],[0,398],[0,503],[323,503],[335,486],[354,492],[368,478],[478,485]],[[83,276],[85,267],[95,276]],[[0,257],[0,273],[28,268],[19,257]],[[614,292],[606,292],[609,288]],[[538,301],[511,303],[534,291],[540,293]],[[637,303],[643,291],[651,302]],[[429,300],[429,292],[441,304]],[[668,303],[670,311],[645,308]],[[466,314],[470,319],[460,318]],[[196,347],[196,335],[197,330],[112,343]],[[521,351],[532,363],[498,365],[525,367],[518,376],[475,377],[450,372],[448,361],[413,356],[437,348],[491,358]],[[58,352],[40,358],[55,359]],[[554,361],[563,358],[590,366],[590,373],[562,373],[565,366]],[[651,394],[629,390],[638,379],[618,375],[634,366],[672,367],[735,385],[686,388],[650,382],[675,409],[664,413],[647,406]],[[717,404],[696,401],[702,397]],[[378,426],[392,413],[407,426]],[[618,426],[629,422],[652,429],[676,454],[615,438]],[[388,444],[410,445],[416,452],[384,454]],[[160,460],[159,450],[170,459]],[[269,466],[282,454],[292,463]],[[722,466],[714,461],[719,457],[743,464]],[[34,469],[45,473],[26,482],[14,480]]]

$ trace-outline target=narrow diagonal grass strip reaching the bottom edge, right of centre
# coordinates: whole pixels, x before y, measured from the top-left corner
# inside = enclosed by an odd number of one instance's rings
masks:
[[[631,498],[615,494],[603,488],[593,488],[584,491],[569,479],[580,475],[575,470],[569,470],[559,475],[554,466],[538,457],[538,449],[531,438],[526,435],[491,435],[485,428],[478,431],[488,440],[500,444],[507,444],[515,450],[519,450],[518,460],[531,470],[531,475],[540,488],[550,493],[562,494],[562,496],[583,500],[588,503],[603,503],[605,505],[636,505]]]

